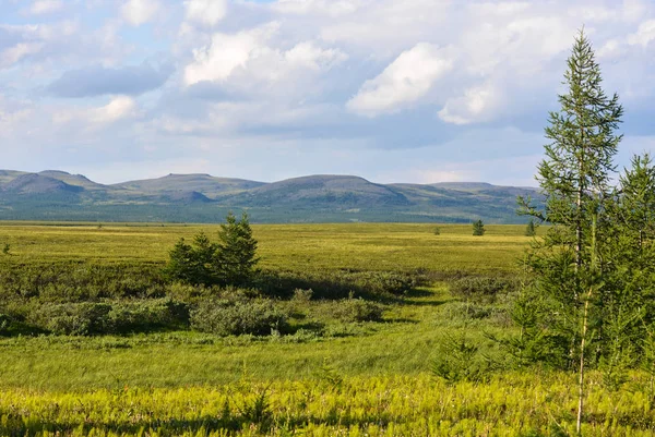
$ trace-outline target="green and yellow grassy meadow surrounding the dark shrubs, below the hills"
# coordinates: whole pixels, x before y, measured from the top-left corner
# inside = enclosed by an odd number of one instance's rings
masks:
[[[0,337],[0,435],[573,435],[574,375],[503,366],[495,340],[516,333],[508,307],[532,241],[525,227],[486,226],[484,236],[471,226],[442,224],[439,234],[436,227],[253,226],[264,271],[326,290],[265,296],[288,315],[285,329],[218,336],[131,320],[128,331],[81,336],[28,329],[43,319],[29,312],[88,302],[114,305],[109,314],[163,300],[196,305],[214,291],[167,284],[158,272],[179,238],[216,228],[3,223],[0,314],[25,318]],[[385,293],[405,278],[416,279],[410,290]],[[462,292],[489,281],[504,288],[492,296]],[[365,300],[330,296],[332,286],[353,286]],[[344,312],[361,302],[381,315]],[[443,344],[460,338],[496,366],[484,378],[434,375]],[[653,435],[654,393],[646,373],[632,372],[618,389],[592,373],[584,434]]]

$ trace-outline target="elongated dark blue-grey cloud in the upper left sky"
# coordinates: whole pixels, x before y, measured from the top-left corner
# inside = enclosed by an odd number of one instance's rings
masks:
[[[48,86],[58,97],[88,97],[104,94],[140,95],[160,87],[172,73],[169,65],[155,69],[153,65],[129,65],[105,68],[102,65],[71,70]]]

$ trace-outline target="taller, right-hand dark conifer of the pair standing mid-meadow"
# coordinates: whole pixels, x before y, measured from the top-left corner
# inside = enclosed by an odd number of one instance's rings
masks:
[[[237,220],[229,213],[226,222],[221,224],[218,231],[219,242],[214,256],[215,271],[219,280],[226,284],[245,286],[252,280],[257,257],[257,240],[252,236],[252,229],[248,214],[243,213]]]

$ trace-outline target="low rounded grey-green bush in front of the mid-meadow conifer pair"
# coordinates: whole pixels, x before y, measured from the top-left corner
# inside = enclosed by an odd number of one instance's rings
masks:
[[[191,327],[218,336],[270,335],[286,327],[287,316],[269,300],[205,301],[191,312]]]

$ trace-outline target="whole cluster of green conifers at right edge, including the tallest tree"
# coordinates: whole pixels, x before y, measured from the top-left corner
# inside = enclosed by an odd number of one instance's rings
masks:
[[[520,214],[551,226],[527,258],[534,281],[514,307],[522,333],[516,355],[576,368],[579,432],[586,367],[598,366],[605,383],[619,387],[626,369],[643,356],[644,320],[654,314],[648,306],[655,278],[655,169],[647,155],[635,157],[620,189],[610,185],[623,109],[602,82],[581,32],[568,60],[561,109],[550,113],[546,128],[551,142],[537,175],[545,209],[519,198]]]

